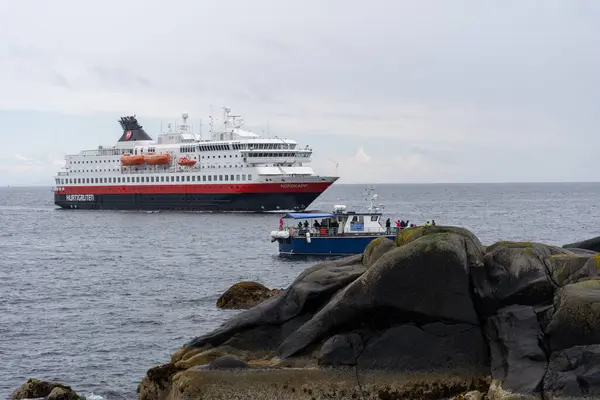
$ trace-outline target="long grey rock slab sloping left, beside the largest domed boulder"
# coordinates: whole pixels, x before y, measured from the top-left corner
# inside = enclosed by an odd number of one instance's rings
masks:
[[[282,325],[301,314],[310,316],[327,303],[333,294],[365,271],[362,254],[314,265],[304,270],[278,296],[235,315],[216,330],[191,340],[185,346],[215,347],[251,328]],[[262,345],[270,346],[269,343]]]

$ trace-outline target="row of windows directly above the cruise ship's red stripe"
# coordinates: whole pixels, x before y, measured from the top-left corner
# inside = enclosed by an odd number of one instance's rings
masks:
[[[247,179],[246,179],[247,177]],[[176,176],[127,176],[114,178],[56,178],[58,185],[85,183],[140,183],[140,182],[232,182],[251,181],[252,174],[242,175],[176,175]]]

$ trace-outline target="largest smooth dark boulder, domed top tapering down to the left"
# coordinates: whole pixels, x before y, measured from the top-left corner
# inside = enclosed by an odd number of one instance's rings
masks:
[[[448,232],[391,250],[285,339],[278,354],[291,357],[341,329],[381,331],[433,322],[477,326],[469,270],[482,259],[470,238]]]

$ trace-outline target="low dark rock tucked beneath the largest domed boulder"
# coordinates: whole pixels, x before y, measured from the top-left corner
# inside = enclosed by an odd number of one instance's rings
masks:
[[[480,327],[439,322],[401,325],[372,338],[358,358],[365,370],[473,370],[489,365]]]

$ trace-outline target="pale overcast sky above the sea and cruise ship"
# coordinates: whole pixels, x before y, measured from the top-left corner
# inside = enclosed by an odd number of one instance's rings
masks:
[[[346,183],[600,181],[600,2],[0,0],[0,185],[227,106]]]

